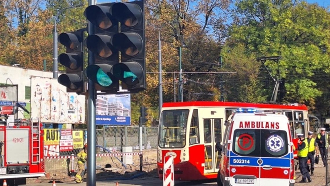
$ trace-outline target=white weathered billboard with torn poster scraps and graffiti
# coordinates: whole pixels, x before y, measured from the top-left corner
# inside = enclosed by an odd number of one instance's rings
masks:
[[[67,93],[57,79],[31,76],[31,117],[43,123],[84,123],[85,96]]]

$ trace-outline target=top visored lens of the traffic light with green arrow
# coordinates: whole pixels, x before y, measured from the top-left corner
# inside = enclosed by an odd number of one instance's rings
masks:
[[[116,3],[112,7],[116,19],[127,27],[136,26],[142,19],[142,10],[136,4]]]

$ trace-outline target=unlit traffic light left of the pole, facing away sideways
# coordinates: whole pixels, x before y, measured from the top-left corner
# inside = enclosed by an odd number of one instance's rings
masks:
[[[58,56],[60,64],[66,67],[66,73],[61,74],[57,81],[67,87],[67,92],[77,94],[86,92],[84,81],[84,55],[83,55],[83,31],[61,33],[58,41],[66,47],[66,53]]]

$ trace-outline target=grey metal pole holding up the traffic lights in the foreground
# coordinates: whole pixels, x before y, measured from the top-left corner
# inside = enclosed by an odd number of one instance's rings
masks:
[[[88,0],[88,6],[95,5],[95,0]],[[94,34],[93,24],[88,21],[88,35]],[[88,50],[88,65],[94,64],[94,54]],[[88,125],[87,125],[87,186],[96,185],[96,125],[95,125],[95,86],[88,79]]]

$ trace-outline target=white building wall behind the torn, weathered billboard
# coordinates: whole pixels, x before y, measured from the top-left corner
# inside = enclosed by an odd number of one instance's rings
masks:
[[[31,75],[52,78],[53,72],[0,65],[0,83],[17,84],[19,102],[30,103],[30,99],[25,99],[25,86],[31,86]],[[23,118],[22,112],[18,112],[18,118]]]

